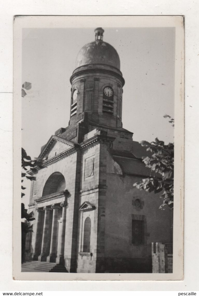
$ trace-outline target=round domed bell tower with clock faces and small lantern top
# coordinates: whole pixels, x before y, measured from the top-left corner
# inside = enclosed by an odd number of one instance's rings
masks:
[[[83,46],[76,58],[70,78],[70,126],[87,116],[91,124],[122,127],[124,78],[119,55],[103,41],[103,33],[102,28],[95,29],[95,41]]]

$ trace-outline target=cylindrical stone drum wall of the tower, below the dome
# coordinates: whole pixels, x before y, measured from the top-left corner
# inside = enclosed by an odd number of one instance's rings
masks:
[[[101,65],[103,68],[103,65]],[[105,67],[106,68],[106,67]],[[77,122],[77,117],[87,112],[89,119],[102,125],[121,127],[122,114],[122,77],[114,72],[103,69],[100,73],[97,69],[90,69],[91,72],[72,76],[72,92],[76,89],[77,113],[70,118],[70,125]],[[105,86],[113,89],[113,111],[103,112],[103,90]]]

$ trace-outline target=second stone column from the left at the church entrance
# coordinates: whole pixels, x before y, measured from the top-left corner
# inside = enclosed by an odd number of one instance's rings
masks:
[[[49,235],[49,222],[50,222],[50,207],[44,207],[45,216],[44,216],[44,228],[42,236],[42,249],[41,254],[39,255],[38,261],[46,261],[47,251],[48,251],[48,235]]]

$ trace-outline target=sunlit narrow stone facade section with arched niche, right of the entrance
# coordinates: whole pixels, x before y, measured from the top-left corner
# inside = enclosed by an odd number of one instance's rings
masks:
[[[92,135],[90,135],[92,136]],[[89,136],[88,136],[89,137]],[[77,272],[95,273],[97,254],[97,217],[98,217],[98,185],[100,166],[100,144],[94,144],[83,149],[80,169],[79,207],[89,202],[93,209],[79,211],[78,224],[78,253]],[[84,223],[86,218],[91,219],[90,250],[83,252]]]

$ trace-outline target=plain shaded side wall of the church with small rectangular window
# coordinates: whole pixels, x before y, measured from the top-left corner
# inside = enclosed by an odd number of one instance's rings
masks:
[[[104,239],[104,248],[99,243],[103,256],[97,257],[98,272],[111,272],[111,266],[112,272],[152,272],[151,242],[157,239],[171,242],[170,209],[159,210],[159,196],[133,187],[142,178],[122,174],[121,169],[114,165],[107,146],[104,145],[104,149],[101,148],[100,151],[103,154],[100,158],[100,182],[104,184],[102,208],[105,225],[100,229],[98,238],[98,242]],[[137,200],[140,202],[138,206]],[[141,244],[132,242],[132,220],[143,221]],[[99,225],[100,214],[98,227]]]

